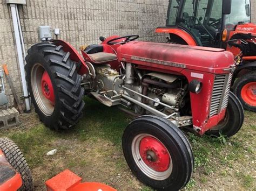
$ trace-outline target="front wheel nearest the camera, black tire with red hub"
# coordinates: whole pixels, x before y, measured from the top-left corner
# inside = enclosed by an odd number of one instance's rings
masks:
[[[183,132],[167,119],[142,116],[124,131],[123,152],[133,174],[157,190],[179,190],[191,178],[194,158]]]

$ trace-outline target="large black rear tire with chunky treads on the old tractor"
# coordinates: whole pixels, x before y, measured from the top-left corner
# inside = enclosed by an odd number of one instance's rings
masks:
[[[55,95],[54,110],[51,114],[46,114],[43,107],[39,106],[42,104],[36,101],[31,83],[34,76],[32,71],[39,71],[38,73],[42,76],[40,71],[43,69],[33,69],[34,67],[42,67],[50,77]],[[81,76],[77,74],[76,68],[77,62],[70,59],[70,53],[64,52],[62,46],[39,43],[33,45],[28,51],[25,70],[31,99],[39,118],[51,129],[70,129],[83,115],[84,89],[80,86]],[[37,99],[38,97],[40,96],[37,96]]]

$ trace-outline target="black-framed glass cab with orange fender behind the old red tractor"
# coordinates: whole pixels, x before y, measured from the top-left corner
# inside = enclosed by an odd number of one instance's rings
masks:
[[[170,0],[166,26],[157,32],[170,33],[170,43],[222,47],[224,29],[250,22],[250,0]]]

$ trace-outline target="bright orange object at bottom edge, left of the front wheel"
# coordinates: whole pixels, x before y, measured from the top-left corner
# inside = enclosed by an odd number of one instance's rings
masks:
[[[117,191],[116,189],[97,182],[84,182],[75,173],[66,169],[45,182],[48,191]]]

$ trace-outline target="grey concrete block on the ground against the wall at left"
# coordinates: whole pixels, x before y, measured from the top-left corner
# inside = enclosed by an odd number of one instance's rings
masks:
[[[0,129],[9,129],[20,124],[19,112],[16,108],[0,111]]]

